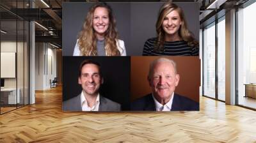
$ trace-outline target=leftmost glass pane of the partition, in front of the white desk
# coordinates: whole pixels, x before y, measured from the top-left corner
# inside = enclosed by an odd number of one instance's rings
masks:
[[[17,21],[1,21],[1,113],[17,108]]]

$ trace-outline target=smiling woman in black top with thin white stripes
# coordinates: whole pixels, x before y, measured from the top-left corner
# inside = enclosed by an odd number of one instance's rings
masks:
[[[161,6],[156,22],[156,38],[143,47],[143,56],[198,56],[198,41],[188,29],[183,10],[172,2]]]

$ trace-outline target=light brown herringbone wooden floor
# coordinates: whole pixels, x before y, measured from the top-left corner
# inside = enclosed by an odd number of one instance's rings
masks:
[[[61,110],[61,88],[0,116],[0,142],[256,142],[256,112],[200,98],[200,112]]]

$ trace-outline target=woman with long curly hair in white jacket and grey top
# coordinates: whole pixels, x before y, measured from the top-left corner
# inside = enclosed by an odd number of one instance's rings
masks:
[[[94,4],[87,13],[73,56],[126,56],[118,39],[116,20],[106,3]]]

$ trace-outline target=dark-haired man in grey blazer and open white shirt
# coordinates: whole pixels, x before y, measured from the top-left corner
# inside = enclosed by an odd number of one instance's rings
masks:
[[[99,94],[103,84],[100,64],[84,60],[79,67],[78,84],[83,91],[81,94],[63,102],[63,110],[72,111],[120,111],[119,103],[113,102]]]

